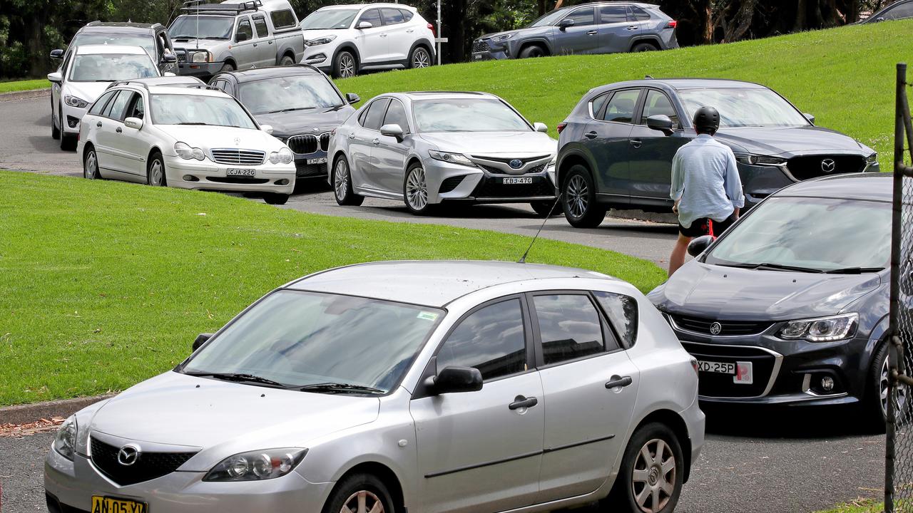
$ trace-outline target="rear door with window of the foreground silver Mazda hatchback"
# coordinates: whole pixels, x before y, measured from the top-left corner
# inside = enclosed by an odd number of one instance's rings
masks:
[[[537,503],[593,492],[624,448],[639,372],[587,291],[529,295],[545,408]]]

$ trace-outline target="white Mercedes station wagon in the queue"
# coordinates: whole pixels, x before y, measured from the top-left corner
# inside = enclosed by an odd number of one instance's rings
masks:
[[[215,89],[123,82],[82,120],[86,178],[262,194],[285,204],[294,155],[232,96]]]

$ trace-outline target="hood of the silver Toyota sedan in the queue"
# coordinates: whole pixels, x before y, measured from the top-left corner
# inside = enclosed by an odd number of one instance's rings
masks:
[[[436,132],[423,133],[420,137],[440,152],[518,156],[558,152],[558,141],[540,131]]]

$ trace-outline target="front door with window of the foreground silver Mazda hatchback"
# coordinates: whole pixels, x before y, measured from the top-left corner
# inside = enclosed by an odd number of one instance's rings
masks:
[[[417,509],[501,511],[535,500],[545,405],[539,372],[530,364],[524,301],[499,298],[470,311],[430,364],[432,372],[475,367],[484,383],[478,392],[418,393],[411,402],[422,502]]]

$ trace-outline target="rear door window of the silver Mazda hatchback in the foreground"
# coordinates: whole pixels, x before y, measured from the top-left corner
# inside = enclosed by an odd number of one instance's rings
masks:
[[[532,303],[546,365],[605,351],[603,323],[588,295],[533,296]]]

